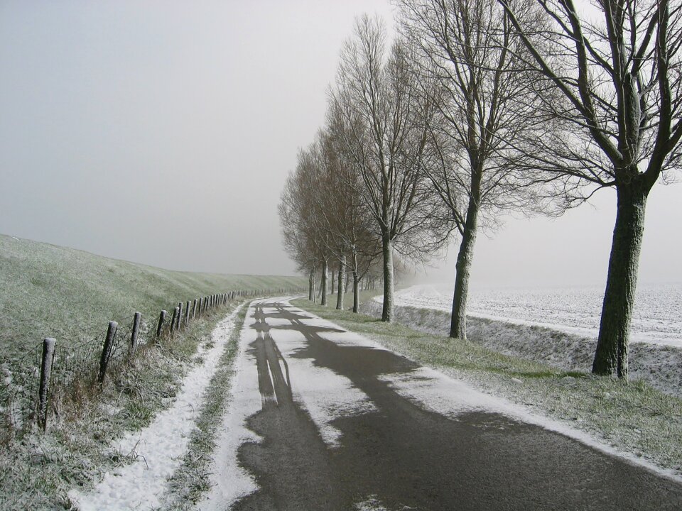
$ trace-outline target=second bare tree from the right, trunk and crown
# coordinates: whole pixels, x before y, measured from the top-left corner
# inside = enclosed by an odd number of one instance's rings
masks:
[[[481,221],[540,209],[535,176],[519,172],[514,143],[538,121],[529,76],[497,0],[399,0],[401,30],[430,109],[433,158],[423,171],[461,241],[450,337],[466,339],[470,268]],[[526,137],[526,140],[528,138]]]

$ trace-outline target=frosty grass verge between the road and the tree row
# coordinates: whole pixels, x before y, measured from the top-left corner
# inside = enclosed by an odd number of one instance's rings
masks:
[[[507,356],[470,341],[386,324],[365,314],[294,300],[345,329],[425,366],[583,430],[619,451],[682,474],[682,400],[644,382],[621,383]]]

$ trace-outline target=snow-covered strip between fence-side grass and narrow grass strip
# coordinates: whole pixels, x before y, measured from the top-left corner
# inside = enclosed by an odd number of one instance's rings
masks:
[[[112,445],[112,449],[123,454],[136,455],[136,461],[105,473],[89,493],[70,492],[69,497],[81,511],[149,510],[160,505],[167,478],[180,466],[187,450],[202,395],[215,373],[240,309],[237,307],[217,324],[212,333],[212,348],[197,353],[204,361],[185,377],[173,406],[158,414],[142,431],[129,433]]]

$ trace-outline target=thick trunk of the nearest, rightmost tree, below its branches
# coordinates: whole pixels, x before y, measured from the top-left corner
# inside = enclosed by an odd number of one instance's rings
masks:
[[[618,185],[618,210],[613,229],[599,337],[592,373],[627,380],[627,344],[637,287],[639,253],[644,235],[644,209],[649,189],[642,179]]]

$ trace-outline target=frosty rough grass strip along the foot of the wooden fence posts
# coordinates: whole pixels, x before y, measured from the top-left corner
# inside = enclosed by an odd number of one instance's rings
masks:
[[[130,365],[108,375],[96,399],[64,407],[60,417],[50,417],[47,434],[34,431],[0,449],[0,509],[70,509],[70,489],[92,488],[98,474],[133,461],[134,450],[118,452],[112,441],[146,427],[171,405],[184,375],[199,363],[198,346],[211,342],[227,310],[207,312],[172,340],[141,346]]]

